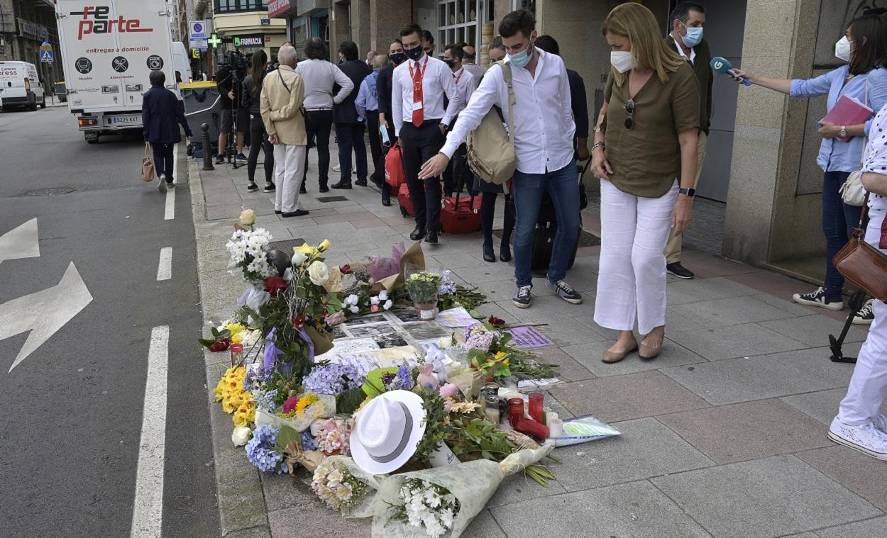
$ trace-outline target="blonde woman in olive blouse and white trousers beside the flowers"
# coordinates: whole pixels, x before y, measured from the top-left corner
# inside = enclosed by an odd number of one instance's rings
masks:
[[[699,87],[693,68],[664,45],[652,12],[621,4],[604,21],[610,45],[605,105],[594,129],[600,178],[600,271],[594,321],[619,331],[603,354],[616,363],[659,354],[665,336],[665,256],[673,226],[692,219]],[[640,343],[632,332],[646,338]]]

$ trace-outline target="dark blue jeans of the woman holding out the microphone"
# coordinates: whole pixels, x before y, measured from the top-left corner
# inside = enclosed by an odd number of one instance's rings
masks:
[[[826,234],[826,281],[828,300],[840,300],[844,291],[844,277],[835,269],[832,259],[852,237],[860,222],[862,207],[848,206],[841,199],[841,185],[849,172],[826,172],[822,181],[822,231]]]

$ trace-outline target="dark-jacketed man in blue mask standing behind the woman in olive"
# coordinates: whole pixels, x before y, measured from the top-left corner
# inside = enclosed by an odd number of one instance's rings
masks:
[[[711,51],[709,43],[703,39],[703,27],[705,26],[705,8],[695,2],[681,2],[671,12],[671,32],[665,36],[665,44],[677,51],[681,58],[686,59],[696,74],[699,82],[699,154],[696,167],[696,180],[693,188],[699,184],[699,176],[703,173],[705,161],[705,147],[708,143],[709,128],[711,126],[711,82],[714,77],[711,74]],[[682,238],[680,234],[671,231],[668,244],[665,246],[665,260],[668,272],[671,275],[689,279],[695,277],[693,271],[685,268],[680,263],[680,251]]]

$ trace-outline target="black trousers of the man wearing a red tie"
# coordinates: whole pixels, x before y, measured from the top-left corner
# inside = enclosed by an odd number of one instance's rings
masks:
[[[445,138],[439,120],[428,120],[420,127],[404,122],[400,128],[400,144],[404,148],[404,171],[410,189],[416,225],[426,230],[439,230],[441,221],[441,178],[419,179],[419,169],[426,160],[441,151]]]

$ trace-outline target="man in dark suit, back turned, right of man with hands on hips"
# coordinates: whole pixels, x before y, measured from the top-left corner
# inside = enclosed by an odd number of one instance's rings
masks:
[[[339,166],[341,178],[339,183],[330,185],[333,189],[351,188],[351,150],[354,150],[354,158],[357,161],[357,185],[366,186],[366,145],[364,144],[364,118],[357,113],[354,101],[360,84],[364,82],[366,75],[372,73],[370,66],[358,58],[357,43],[343,41],[339,45],[339,53],[344,61],[339,64],[341,72],[346,74],[351,82],[354,82],[354,90],[341,103],[333,106],[333,121],[335,122],[335,136],[339,142]],[[336,84],[334,92],[339,91]]]

